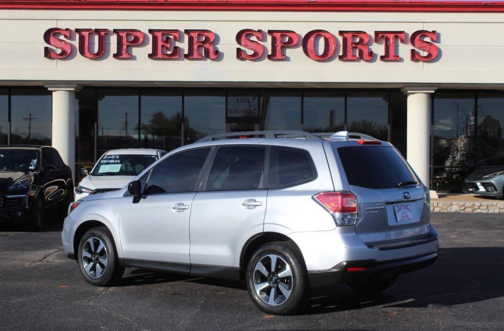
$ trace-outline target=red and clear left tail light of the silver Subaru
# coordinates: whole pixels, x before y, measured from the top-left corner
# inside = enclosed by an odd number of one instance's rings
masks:
[[[337,225],[355,225],[357,223],[357,198],[351,192],[322,192],[313,199],[329,211]]]

